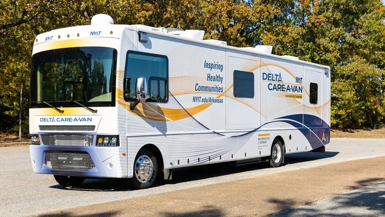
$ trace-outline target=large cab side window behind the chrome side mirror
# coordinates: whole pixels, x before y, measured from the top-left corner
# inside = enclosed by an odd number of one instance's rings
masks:
[[[128,51],[124,73],[124,99],[135,100],[136,78],[146,78],[146,102],[167,102],[168,100],[168,59],[167,56]]]

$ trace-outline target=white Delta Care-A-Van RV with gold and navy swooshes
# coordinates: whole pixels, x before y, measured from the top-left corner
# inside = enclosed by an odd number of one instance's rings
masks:
[[[330,68],[203,31],[91,25],[33,45],[31,161],[59,184],[124,178],[148,188],[174,168],[283,163],[330,141]]]

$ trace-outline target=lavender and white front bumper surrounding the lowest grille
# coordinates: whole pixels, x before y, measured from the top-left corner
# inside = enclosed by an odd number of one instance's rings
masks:
[[[87,177],[108,177],[124,178],[124,174],[119,169],[126,168],[122,163],[119,147],[96,147],[96,146],[45,146],[30,145],[30,155],[33,171],[35,173],[69,176]],[[95,164],[94,168],[87,171],[55,170],[45,164],[45,155],[50,152],[82,152],[88,153]],[[112,164],[112,168],[110,167]]]

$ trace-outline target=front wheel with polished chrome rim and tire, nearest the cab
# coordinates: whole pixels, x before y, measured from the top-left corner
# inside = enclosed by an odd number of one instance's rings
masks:
[[[124,180],[126,185],[134,189],[151,187],[157,176],[158,164],[154,153],[149,149],[141,149],[134,162],[134,175]]]

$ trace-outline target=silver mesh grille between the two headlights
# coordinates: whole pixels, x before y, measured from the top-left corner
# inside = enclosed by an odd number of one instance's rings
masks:
[[[93,135],[40,135],[46,146],[91,146]]]

